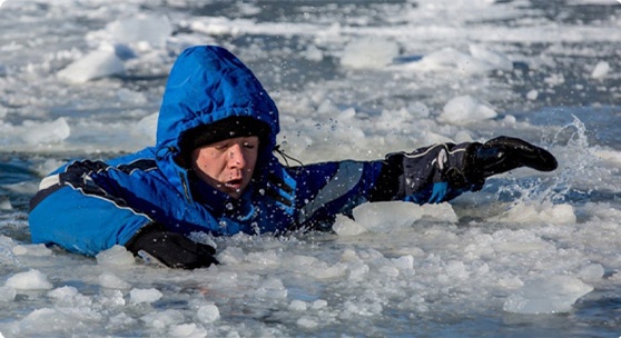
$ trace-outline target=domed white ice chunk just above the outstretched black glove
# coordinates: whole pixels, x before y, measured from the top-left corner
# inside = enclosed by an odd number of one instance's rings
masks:
[[[493,119],[496,116],[496,111],[487,102],[471,96],[462,96],[446,102],[437,120],[440,122],[463,126]]]

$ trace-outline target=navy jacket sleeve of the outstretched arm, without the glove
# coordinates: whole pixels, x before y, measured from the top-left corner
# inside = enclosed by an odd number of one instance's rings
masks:
[[[438,203],[480,190],[483,181],[470,181],[462,173],[469,146],[443,143],[390,153],[384,160],[289,168],[297,181],[298,223],[317,227],[366,201]]]

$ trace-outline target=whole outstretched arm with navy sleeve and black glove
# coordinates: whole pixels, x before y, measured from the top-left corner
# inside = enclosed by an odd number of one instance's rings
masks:
[[[490,176],[519,167],[556,168],[546,150],[516,138],[442,143],[394,152],[377,161],[339,161],[289,168],[297,183],[302,227],[329,226],[365,201],[438,203],[480,190]]]

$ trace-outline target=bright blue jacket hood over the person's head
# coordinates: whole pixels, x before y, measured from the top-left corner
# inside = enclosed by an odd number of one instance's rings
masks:
[[[181,135],[228,117],[252,117],[269,126],[270,152],[279,132],[278,109],[253,72],[217,46],[186,49],[175,61],[159,110],[156,148],[179,150]]]

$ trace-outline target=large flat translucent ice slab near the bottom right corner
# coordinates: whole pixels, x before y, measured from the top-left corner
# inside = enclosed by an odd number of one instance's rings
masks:
[[[526,282],[509,296],[503,309],[516,314],[559,314],[571,310],[572,305],[593,287],[571,276],[554,275]]]

